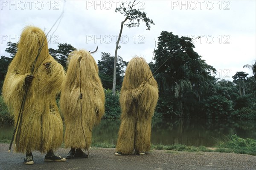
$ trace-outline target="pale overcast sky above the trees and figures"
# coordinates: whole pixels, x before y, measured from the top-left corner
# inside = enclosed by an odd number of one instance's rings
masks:
[[[77,49],[99,50],[93,55],[100,60],[101,52],[114,55],[115,43],[124,16],[114,12],[124,2],[119,0],[0,0],[0,55],[9,56],[6,43],[17,43],[22,29],[33,25],[46,33],[64,11],[61,23],[49,35],[49,48],[70,43]],[[161,31],[174,35],[198,37],[193,41],[195,52],[217,70],[216,78],[231,78],[238,71],[252,75],[245,64],[256,60],[256,0],[137,0],[136,9],[146,12],[155,25],[150,31],[145,23],[124,27],[121,49],[125,61],[140,55],[151,62],[154,38]],[[56,28],[56,27],[55,27]]]

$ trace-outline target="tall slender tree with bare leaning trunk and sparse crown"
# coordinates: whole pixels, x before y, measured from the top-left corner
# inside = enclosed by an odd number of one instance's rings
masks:
[[[133,3],[128,4],[128,8],[125,8],[124,3],[121,4],[120,7],[116,8],[115,12],[120,12],[125,16],[125,20],[121,22],[121,28],[119,32],[118,39],[116,41],[116,50],[115,50],[115,60],[114,60],[114,67],[113,67],[113,94],[116,93],[116,62],[117,62],[117,50],[120,48],[119,41],[122,36],[122,29],[123,26],[127,26],[128,28],[140,26],[140,20],[143,20],[147,26],[147,30],[150,30],[150,24],[154,25],[153,20],[149,19],[146,16],[145,12],[140,12],[139,9],[134,9],[137,5],[136,0]],[[125,22],[128,20],[128,23]]]

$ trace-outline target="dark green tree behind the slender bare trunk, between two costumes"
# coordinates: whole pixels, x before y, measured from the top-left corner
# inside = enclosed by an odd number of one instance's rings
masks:
[[[116,89],[121,88],[125,67],[128,62],[123,61],[122,57],[117,57],[116,63]],[[102,85],[105,89],[111,89],[113,83],[113,68],[114,68],[114,56],[110,53],[101,53],[101,60],[98,60],[99,77],[101,78]]]

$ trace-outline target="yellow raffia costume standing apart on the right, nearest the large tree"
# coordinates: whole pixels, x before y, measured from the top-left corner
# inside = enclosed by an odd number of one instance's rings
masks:
[[[158,100],[158,86],[145,59],[128,63],[120,94],[121,125],[116,151],[144,153],[150,149],[151,118]],[[151,77],[151,78],[150,78]]]

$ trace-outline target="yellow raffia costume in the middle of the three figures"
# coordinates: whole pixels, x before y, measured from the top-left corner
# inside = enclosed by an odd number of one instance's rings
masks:
[[[66,147],[90,147],[93,126],[101,121],[105,111],[105,93],[98,72],[90,52],[79,50],[69,55],[60,98]]]

